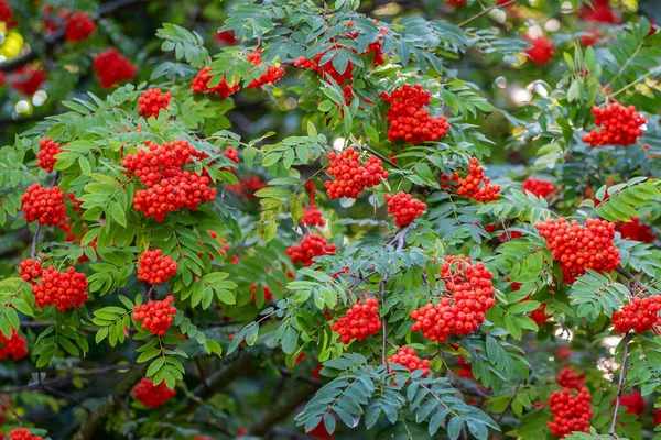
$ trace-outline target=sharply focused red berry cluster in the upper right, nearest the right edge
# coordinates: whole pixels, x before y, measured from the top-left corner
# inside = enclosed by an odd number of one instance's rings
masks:
[[[624,107],[617,102],[603,109],[593,107],[592,112],[595,117],[595,125],[602,125],[602,129],[592,130],[581,140],[593,148],[602,145],[635,144],[643,133],[640,127],[647,122],[647,119],[636,111],[636,107]]]

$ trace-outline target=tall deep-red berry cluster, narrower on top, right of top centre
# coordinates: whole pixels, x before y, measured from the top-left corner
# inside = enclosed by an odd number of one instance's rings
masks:
[[[422,85],[404,85],[392,90],[390,95],[381,92],[381,97],[390,105],[386,119],[389,122],[388,140],[399,139],[418,145],[425,141],[437,141],[447,134],[449,124],[445,117],[430,117],[429,106],[432,94],[423,90]]]

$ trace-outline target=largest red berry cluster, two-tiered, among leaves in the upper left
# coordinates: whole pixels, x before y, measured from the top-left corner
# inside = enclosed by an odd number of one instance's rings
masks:
[[[140,189],[133,197],[133,207],[147,217],[163,221],[167,212],[181,208],[196,210],[205,202],[214,200],[216,188],[209,187],[212,179],[203,173],[197,175],[184,170],[185,164],[193,158],[206,157],[186,141],[165,142],[158,145],[148,142],[148,148],[129,154],[122,162],[148,187]]]

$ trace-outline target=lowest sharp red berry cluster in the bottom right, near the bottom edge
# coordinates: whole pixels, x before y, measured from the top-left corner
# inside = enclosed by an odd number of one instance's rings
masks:
[[[553,419],[549,422],[551,433],[564,438],[575,431],[589,432],[589,418],[594,415],[590,403],[592,396],[585,387],[576,394],[568,388],[551,393],[549,396],[549,407],[553,415]]]

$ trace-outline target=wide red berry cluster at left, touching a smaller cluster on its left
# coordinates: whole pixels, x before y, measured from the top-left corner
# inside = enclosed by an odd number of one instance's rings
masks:
[[[42,272],[39,283],[32,285],[34,302],[44,308],[55,306],[57,310],[65,311],[72,307],[80,308],[83,302],[89,300],[87,294],[87,277],[69,266],[66,272],[58,272],[50,266]]]

